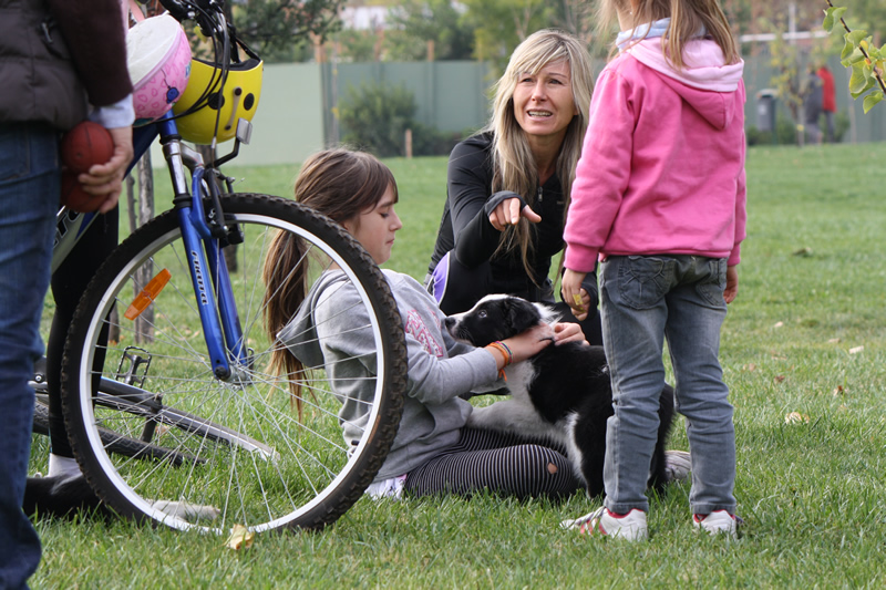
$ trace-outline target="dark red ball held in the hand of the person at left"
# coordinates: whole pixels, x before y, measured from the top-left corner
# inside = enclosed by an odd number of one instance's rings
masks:
[[[104,203],[105,196],[90,195],[83,190],[76,177],[89,172],[95,164],[106,164],[113,155],[114,138],[97,123],[83,121],[65,133],[61,143],[64,165],[61,204],[80,213],[96,210]]]

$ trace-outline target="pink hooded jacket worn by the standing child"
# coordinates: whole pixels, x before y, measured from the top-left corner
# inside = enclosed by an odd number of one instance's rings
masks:
[[[573,183],[565,266],[598,256],[697,255],[739,263],[745,237],[743,62],[711,40],[687,43],[674,70],[661,39],[600,73]]]

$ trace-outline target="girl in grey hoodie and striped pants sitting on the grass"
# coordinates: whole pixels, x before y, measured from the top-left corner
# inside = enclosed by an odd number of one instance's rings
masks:
[[[391,256],[394,236],[402,227],[394,211],[396,183],[391,170],[373,156],[346,149],[328,149],[310,157],[296,179],[296,200],[341,224],[372,256],[378,265]],[[296,253],[288,234],[280,234],[269,252],[266,281],[269,292],[295,293],[287,265],[278,263]],[[565,449],[549,442],[527,441],[516,435],[466,427],[472,405],[461,394],[477,389],[497,389],[499,371],[507,360],[499,349],[476,349],[455,342],[442,329],[445,315],[436,301],[412,277],[383,270],[396,300],[404,324],[409,374],[403,417],[391,451],[369,493],[396,496],[403,490],[414,496],[471,494],[488,490],[517,498],[546,496],[560,498],[578,489]],[[357,293],[341,287],[343,272],[327,270],[303,298],[276,297],[270,302],[269,335],[286,349],[277,351],[277,366],[291,373],[298,363],[334,368],[349,376],[372,375],[361,359],[371,351],[371,338],[342,329],[369,323],[363,309],[353,306]],[[272,287],[271,287],[272,286]],[[329,289],[336,289],[329,297]],[[324,296],[326,292],[326,296]],[[347,311],[346,311],[347,310]],[[584,340],[578,324],[547,325],[504,341],[513,362],[536,354],[552,343]],[[311,335],[308,337],[307,334]],[[341,334],[347,334],[342,337]],[[297,364],[293,364],[297,363]],[[371,381],[350,380],[356,397],[369,398]],[[364,392],[360,391],[365,390]],[[346,428],[359,423],[368,412],[365,404],[348,404],[339,416]],[[357,435],[359,437],[359,435]]]

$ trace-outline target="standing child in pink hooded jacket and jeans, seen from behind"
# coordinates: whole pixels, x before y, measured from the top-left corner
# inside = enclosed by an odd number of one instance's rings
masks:
[[[594,92],[564,234],[565,301],[601,261],[615,406],[604,507],[564,526],[630,540],[647,537],[664,339],[693,524],[736,535],[733,408],[718,356],[745,236],[743,62],[717,0],[678,1],[673,15],[673,2],[602,1],[601,22],[616,15],[622,32]]]

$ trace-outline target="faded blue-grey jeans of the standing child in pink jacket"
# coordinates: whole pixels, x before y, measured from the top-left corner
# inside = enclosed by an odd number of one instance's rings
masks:
[[[735,513],[735,429],[718,359],[725,259],[616,256],[601,266],[602,337],[615,415],[606,431],[605,504],[614,513],[649,509],[647,479],[664,386],[663,341],[687,422],[693,514]]]

